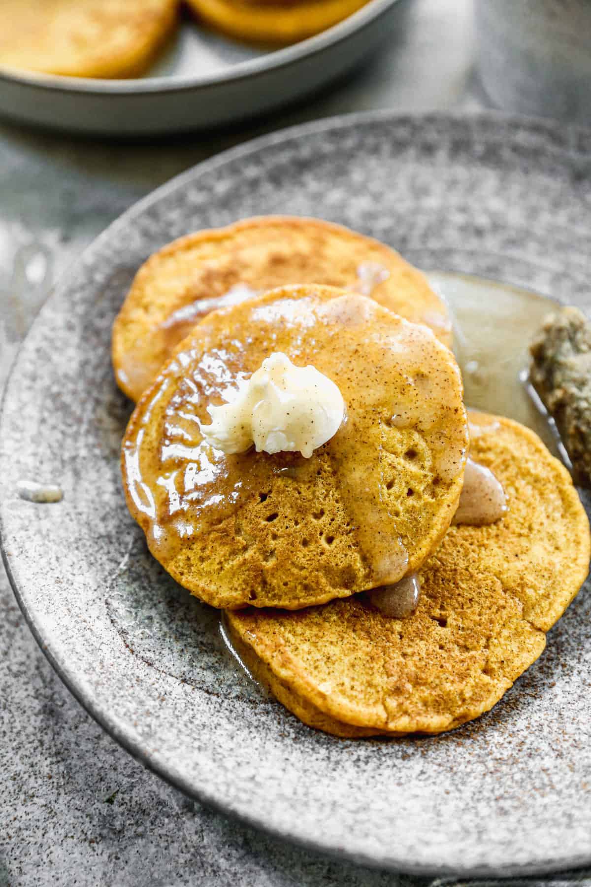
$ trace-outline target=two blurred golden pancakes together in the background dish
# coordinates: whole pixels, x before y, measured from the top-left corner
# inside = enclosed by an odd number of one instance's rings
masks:
[[[188,0],[239,40],[295,43],[367,0]],[[136,77],[180,20],[180,0],[2,0],[0,66],[70,77]]]

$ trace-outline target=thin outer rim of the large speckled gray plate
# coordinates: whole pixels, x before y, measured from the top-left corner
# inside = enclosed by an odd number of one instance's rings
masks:
[[[394,0],[394,2],[396,2],[396,0]],[[0,400],[0,433],[4,426],[4,422],[6,421],[5,411],[8,400],[8,392],[12,384],[12,377],[16,373],[17,367],[19,365],[25,342],[28,340],[34,328],[43,324],[45,305],[48,302],[53,302],[54,300],[59,298],[59,291],[70,276],[70,273],[74,270],[75,266],[78,266],[81,263],[84,264],[85,259],[89,257],[89,255],[92,255],[97,247],[100,246],[103,239],[106,239],[107,237],[112,236],[113,233],[117,232],[120,225],[125,225],[128,223],[129,219],[133,218],[136,215],[142,214],[144,212],[144,208],[159,200],[168,191],[174,191],[175,188],[182,186],[184,181],[190,181],[191,178],[196,175],[206,174],[207,172],[210,172],[217,167],[224,165],[226,162],[233,161],[241,157],[247,157],[250,154],[258,153],[259,151],[265,150],[268,147],[275,146],[283,142],[289,142],[294,138],[306,136],[307,134],[323,132],[326,130],[342,129],[359,124],[384,121],[389,121],[393,124],[416,123],[423,121],[474,121],[485,123],[503,122],[505,124],[515,123],[519,126],[536,127],[538,129],[541,128],[542,130],[548,130],[548,132],[553,133],[559,132],[563,136],[564,131],[567,130],[569,132],[572,132],[573,134],[580,132],[581,134],[585,134],[587,137],[591,137],[591,128],[581,127],[577,124],[564,125],[547,118],[528,117],[522,114],[504,114],[500,111],[437,111],[422,114],[412,114],[400,113],[389,109],[382,109],[377,111],[374,110],[366,112],[354,112],[350,114],[338,114],[336,116],[323,118],[314,122],[296,124],[283,130],[276,130],[275,132],[272,132],[270,134],[253,138],[241,145],[235,145],[221,153],[217,153],[213,157],[210,157],[205,161],[198,162],[190,169],[186,169],[179,175],[169,179],[164,184],[160,184],[159,187],[155,188],[152,192],[149,192],[142,199],[137,200],[135,203],[133,203],[120,216],[114,219],[113,222],[109,224],[103,232],[98,234],[98,236],[93,239],[89,243],[89,245],[84,247],[82,253],[74,257],[74,260],[69,263],[65,271],[62,272],[56,284],[51,288],[51,292],[48,294],[47,299],[43,303],[42,309],[35,317],[33,324],[27,332],[27,336],[23,341],[19,343],[19,349],[17,350],[17,353],[13,358],[12,366],[6,378],[4,390],[2,392],[2,398]],[[507,286],[507,284],[505,284],[503,281],[498,282],[501,283],[503,286]],[[0,472],[2,469],[3,461],[4,459],[2,459],[2,453],[0,453]],[[13,566],[18,567],[18,561],[12,561],[12,558],[9,558],[9,555],[6,551],[4,540],[5,527],[8,522],[7,516],[8,515],[6,514],[4,509],[4,503],[2,501],[2,498],[0,498],[0,553],[2,554],[2,559],[4,561],[4,569],[9,579],[9,583],[12,586],[12,591],[19,604],[19,608],[27,622],[27,625],[31,630],[33,636],[35,637],[35,640],[37,641],[39,647],[42,649],[43,654],[51,664],[52,668],[58,673],[58,677],[63,681],[72,695],[74,695],[74,698],[77,700],[77,702],[82,705],[82,708],[86,710],[92,718],[95,719],[97,724],[101,726],[107,734],[113,737],[116,742],[119,742],[119,744],[125,750],[127,750],[133,757],[135,757],[136,760],[139,760],[148,770],[150,770],[152,773],[156,773],[160,778],[175,786],[176,789],[183,791],[183,793],[186,794],[188,797],[194,798],[198,800],[199,803],[203,803],[212,807],[215,811],[222,813],[224,816],[228,816],[231,819],[243,822],[245,823],[245,825],[251,828],[257,828],[263,833],[273,836],[280,841],[287,841],[305,850],[321,853],[336,860],[349,861],[358,865],[375,869],[398,871],[401,873],[407,873],[409,875],[432,877],[439,876],[446,878],[545,875],[557,871],[565,871],[566,869],[571,870],[574,868],[591,865],[591,851],[587,853],[581,853],[575,857],[571,856],[563,859],[542,860],[541,862],[534,863],[509,864],[507,866],[494,866],[488,864],[477,866],[462,866],[462,864],[458,864],[455,867],[450,867],[449,865],[436,866],[429,863],[416,863],[410,859],[405,859],[403,857],[400,858],[400,856],[395,857],[393,854],[389,855],[387,860],[380,860],[360,852],[346,852],[342,850],[337,850],[333,847],[322,844],[321,841],[315,841],[309,838],[294,835],[292,834],[292,832],[287,832],[284,829],[274,828],[272,824],[269,824],[267,821],[261,820],[257,816],[252,816],[247,812],[237,812],[233,808],[226,805],[224,802],[218,801],[216,797],[210,796],[210,794],[206,790],[195,789],[189,784],[187,780],[184,780],[182,776],[177,776],[175,775],[175,773],[171,773],[171,771],[167,769],[167,766],[164,764],[164,762],[160,763],[158,758],[154,758],[146,754],[142,748],[142,744],[139,738],[134,739],[134,737],[124,734],[120,727],[115,723],[114,719],[109,718],[109,712],[107,710],[99,710],[99,707],[94,704],[92,698],[86,697],[83,694],[82,688],[77,686],[76,675],[74,671],[68,671],[66,667],[64,667],[61,663],[58,663],[58,660],[51,651],[51,648],[49,648],[43,640],[42,633],[39,627],[35,624],[32,614],[28,610],[26,596],[21,593],[19,580],[17,577],[18,570],[13,569]]]

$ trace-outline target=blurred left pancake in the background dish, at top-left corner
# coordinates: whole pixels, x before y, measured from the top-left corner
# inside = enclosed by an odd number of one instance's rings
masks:
[[[2,0],[0,67],[133,77],[175,26],[178,0]]]

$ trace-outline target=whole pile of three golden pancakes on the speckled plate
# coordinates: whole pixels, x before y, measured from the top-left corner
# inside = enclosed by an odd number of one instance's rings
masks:
[[[253,675],[331,734],[434,734],[490,709],[587,576],[570,475],[529,429],[466,413],[449,344],[446,306],[392,249],[284,217],[164,247],[113,327],[148,546],[224,609]],[[207,406],[272,351],[334,381],[346,423],[310,459],[213,450]],[[451,526],[469,449],[509,510]],[[369,591],[411,573],[416,610],[385,616]]]

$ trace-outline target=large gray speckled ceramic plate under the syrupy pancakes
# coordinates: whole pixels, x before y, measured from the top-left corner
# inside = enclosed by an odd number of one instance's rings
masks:
[[[121,493],[130,404],[109,362],[113,317],[146,256],[185,232],[254,213],[324,216],[426,269],[588,305],[590,174],[591,134],[549,122],[391,114],[319,122],[175,179],[61,280],[4,401],[4,557],[66,684],[152,769],[261,828],[379,866],[465,875],[591,861],[587,590],[540,661],[477,721],[436,738],[315,733],[249,683],[224,649],[214,610],[146,554]],[[499,318],[494,287],[485,295],[475,285],[469,296],[469,284],[459,289],[483,323]],[[64,498],[24,501],[23,479],[58,483]]]

